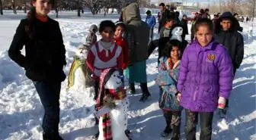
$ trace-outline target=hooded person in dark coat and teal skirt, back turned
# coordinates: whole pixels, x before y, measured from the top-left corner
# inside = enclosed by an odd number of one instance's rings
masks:
[[[128,41],[128,67],[124,75],[129,79],[127,92],[134,94],[135,82],[140,83],[142,97],[145,101],[150,93],[147,85],[146,60],[148,59],[149,26],[141,20],[139,5],[136,2],[127,5],[123,10],[123,21],[126,24],[125,39]]]

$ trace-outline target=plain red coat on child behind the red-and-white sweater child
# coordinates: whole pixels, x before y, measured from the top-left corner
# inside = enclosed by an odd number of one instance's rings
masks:
[[[120,39],[113,39],[113,41],[122,47],[123,50],[123,65],[122,69],[126,69],[128,64],[128,42],[126,39],[120,38]]]

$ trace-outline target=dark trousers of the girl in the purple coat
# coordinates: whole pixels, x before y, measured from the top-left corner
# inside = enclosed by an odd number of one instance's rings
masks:
[[[187,140],[196,140],[197,120],[200,117],[200,140],[210,140],[212,136],[213,112],[193,112],[185,110],[185,134]]]

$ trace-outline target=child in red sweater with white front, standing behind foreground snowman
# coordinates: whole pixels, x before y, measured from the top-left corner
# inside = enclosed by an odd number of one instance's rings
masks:
[[[102,38],[91,47],[88,53],[86,63],[91,69],[95,81],[94,100],[98,98],[99,76],[101,76],[101,72],[107,68],[121,69],[123,65],[122,48],[112,41],[115,30],[116,26],[112,21],[102,21],[99,29]],[[98,119],[96,119],[96,124],[98,124]],[[98,133],[94,136],[98,137]]]

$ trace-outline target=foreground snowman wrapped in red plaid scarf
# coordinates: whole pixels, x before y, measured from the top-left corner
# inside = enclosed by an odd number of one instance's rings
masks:
[[[100,118],[98,140],[130,140],[126,130],[130,103],[122,79],[123,75],[113,68],[101,73],[95,113]]]

